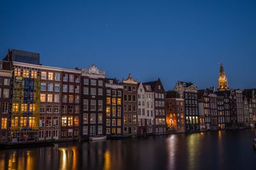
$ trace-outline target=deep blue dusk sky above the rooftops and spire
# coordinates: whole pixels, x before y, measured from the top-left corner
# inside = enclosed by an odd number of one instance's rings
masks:
[[[0,56],[39,52],[47,66],[89,67],[140,81],[256,87],[256,1],[0,2]]]

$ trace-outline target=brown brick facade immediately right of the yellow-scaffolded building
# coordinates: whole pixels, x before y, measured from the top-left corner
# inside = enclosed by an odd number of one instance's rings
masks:
[[[62,71],[56,67],[40,66],[40,141],[60,139]]]

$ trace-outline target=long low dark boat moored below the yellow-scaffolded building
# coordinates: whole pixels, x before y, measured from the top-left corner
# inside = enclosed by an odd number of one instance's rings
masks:
[[[27,141],[27,142],[6,142],[0,143],[1,149],[12,149],[12,148],[28,148],[32,146],[48,146],[53,145],[55,139],[50,139],[47,141]]]

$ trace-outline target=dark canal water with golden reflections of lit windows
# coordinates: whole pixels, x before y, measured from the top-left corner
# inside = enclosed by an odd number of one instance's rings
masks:
[[[0,169],[256,169],[251,130],[0,150]]]

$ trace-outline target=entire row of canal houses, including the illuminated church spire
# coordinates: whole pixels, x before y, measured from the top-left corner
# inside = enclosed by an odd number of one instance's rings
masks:
[[[2,141],[79,140],[255,127],[255,89],[229,89],[223,65],[218,90],[177,81],[118,81],[88,69],[42,66],[39,53],[11,50],[0,62]]]

